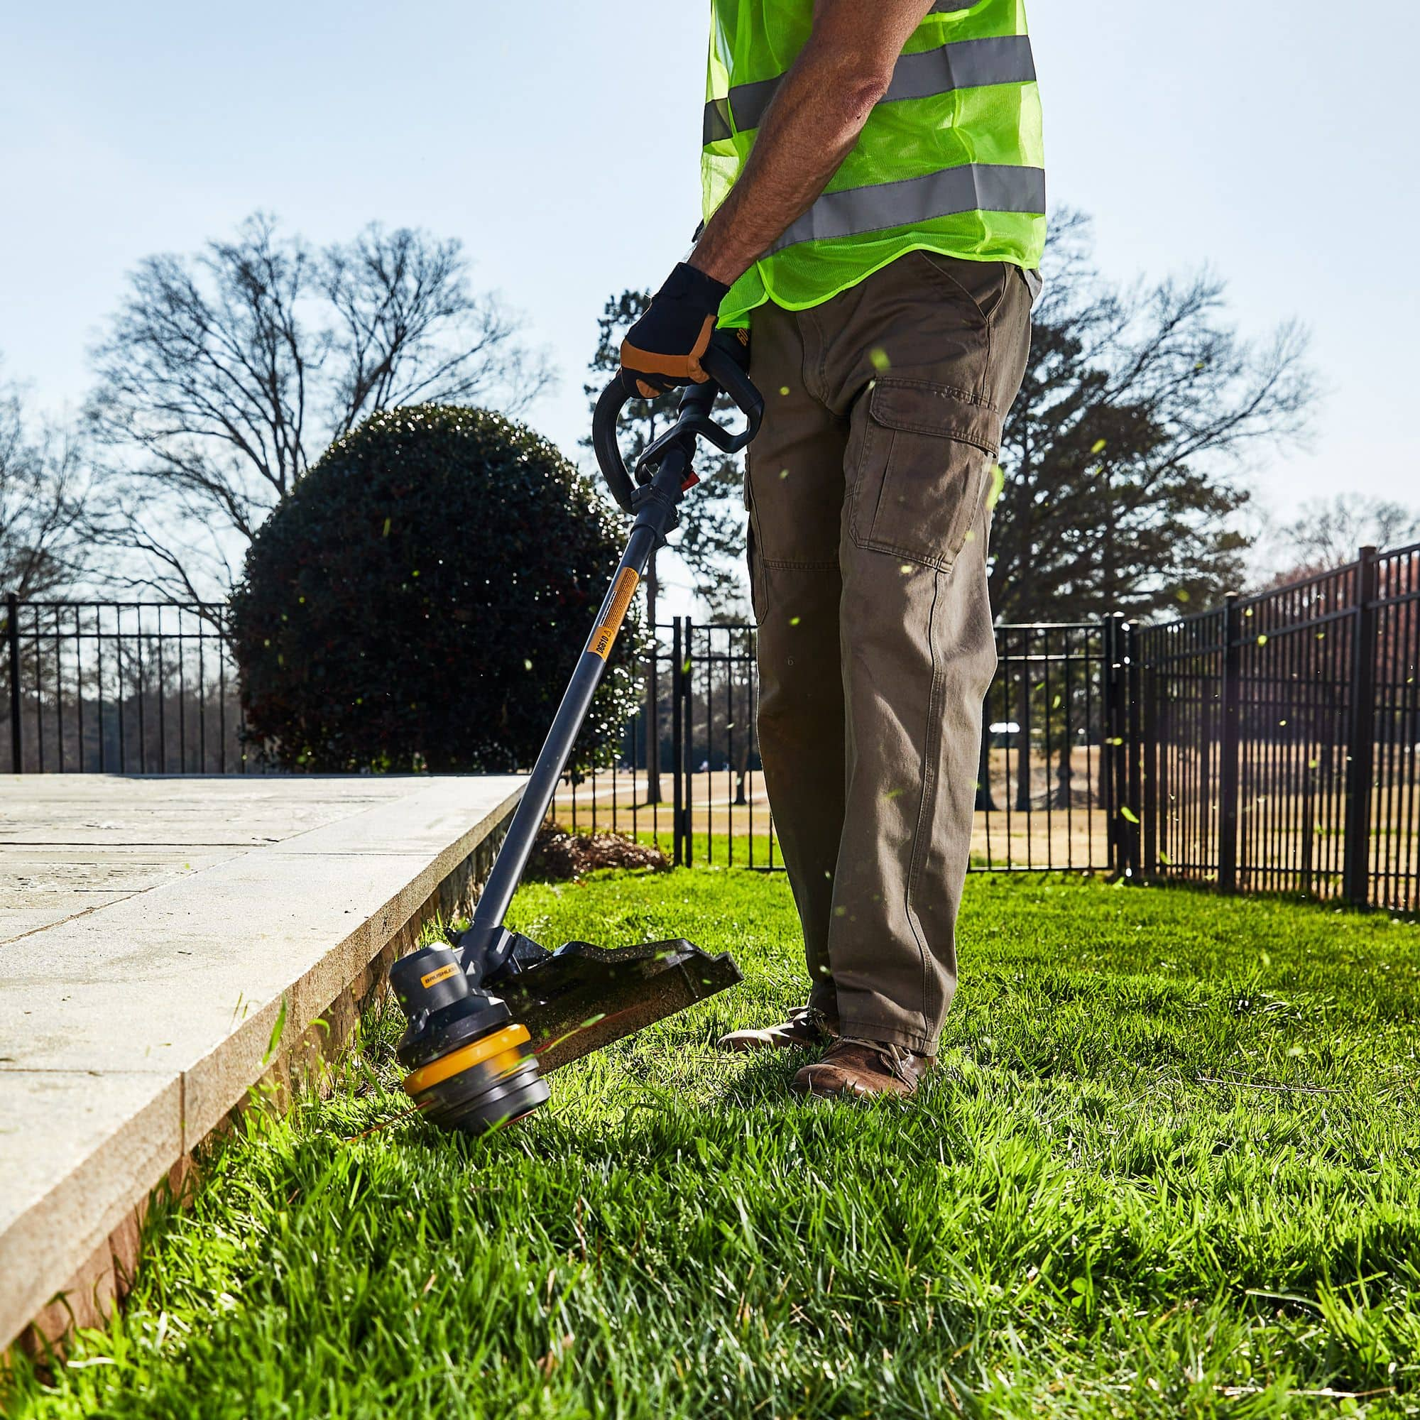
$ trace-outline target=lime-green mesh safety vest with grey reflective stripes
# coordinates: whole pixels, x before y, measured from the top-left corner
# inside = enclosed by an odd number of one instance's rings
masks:
[[[808,40],[814,0],[711,0],[704,216],[744,169]],[[731,287],[721,325],[765,300],[818,305],[913,250],[1038,267],[1041,101],[1024,0],[937,0],[822,196]]]

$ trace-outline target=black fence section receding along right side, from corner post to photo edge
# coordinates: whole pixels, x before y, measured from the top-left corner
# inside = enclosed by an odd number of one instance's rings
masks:
[[[1420,910],[1420,545],[1125,632],[1122,866]]]

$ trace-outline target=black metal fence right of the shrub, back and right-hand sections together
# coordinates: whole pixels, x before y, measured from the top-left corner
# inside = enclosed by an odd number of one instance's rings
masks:
[[[657,630],[618,765],[558,812],[682,863],[780,866],[753,628]],[[1420,912],[1420,544],[1160,625],[1000,626],[997,653],[973,870]]]

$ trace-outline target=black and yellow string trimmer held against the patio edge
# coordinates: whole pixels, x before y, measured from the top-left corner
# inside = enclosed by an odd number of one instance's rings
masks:
[[[616,422],[635,388],[618,375],[596,402],[596,463],[612,497],[633,518],[626,551],[528,775],[473,923],[452,939],[452,946],[422,947],[390,968],[390,984],[409,1020],[398,1048],[409,1071],[405,1089],[446,1129],[483,1133],[537,1109],[550,1093],[542,1076],[558,1065],[740,980],[728,953],[709,956],[680,937],[612,951],[568,941],[548,951],[503,922],[646,562],[679,523],[680,500],[697,481],[697,440],[737,453],[758,432],[764,400],[734,355],[711,342],[701,366],[710,379],[686,390],[676,422],[636,460],[635,481],[616,443]],[[737,435],[711,419],[720,390],[748,420]]]

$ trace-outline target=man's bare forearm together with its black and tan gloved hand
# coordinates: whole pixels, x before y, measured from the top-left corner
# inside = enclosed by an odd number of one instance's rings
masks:
[[[774,92],[744,172],[622,341],[622,369],[642,395],[706,378],[700,356],[726,291],[828,186],[930,9],[932,0],[815,0],[808,43]]]

